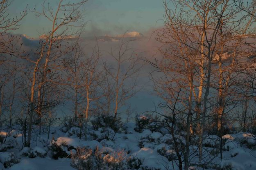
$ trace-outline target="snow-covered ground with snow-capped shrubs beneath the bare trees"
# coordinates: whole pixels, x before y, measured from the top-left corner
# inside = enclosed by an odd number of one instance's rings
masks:
[[[95,148],[98,148],[103,163],[115,162],[119,170],[179,169],[171,134],[161,128],[155,131],[154,128],[140,129],[138,132],[134,129],[135,123],[126,123],[118,132],[111,128],[91,127],[86,131],[87,139],[79,139],[77,127],[67,132],[61,131],[63,128],[54,127],[48,139],[45,129],[42,130],[45,133],[39,135],[38,127],[35,126],[33,142],[30,148],[24,148],[23,135],[18,130],[6,128],[1,132],[4,143],[0,143],[0,170],[72,170],[75,166],[71,166],[70,154],[75,154],[77,149],[83,147],[90,148],[92,152],[96,152]],[[184,136],[176,135],[176,138],[182,146],[185,142]],[[191,145],[190,169],[256,170],[256,137],[253,134],[226,134],[222,139],[222,160],[218,152],[220,137],[216,135],[204,136],[204,159],[201,162],[198,159],[198,147]],[[114,154],[120,151],[125,154]],[[95,164],[91,155],[93,153],[81,158],[86,160],[90,157],[90,161]],[[125,163],[118,162],[120,157],[123,157],[121,161]],[[84,163],[88,164],[88,161]],[[111,169],[109,166],[107,169],[112,170],[113,167]]]

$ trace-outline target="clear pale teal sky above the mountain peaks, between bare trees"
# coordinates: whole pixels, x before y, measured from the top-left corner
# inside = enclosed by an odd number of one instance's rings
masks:
[[[57,0],[49,2],[52,7],[57,6]],[[41,10],[42,3],[43,0],[15,0],[10,7],[11,16],[18,16],[26,5],[30,10],[34,7]],[[123,34],[127,30],[143,34],[162,25],[164,13],[162,0],[88,0],[83,9],[86,13],[84,21],[88,21],[86,31],[91,36]],[[36,18],[29,12],[16,34],[37,38],[50,28],[50,24],[43,17]]]

